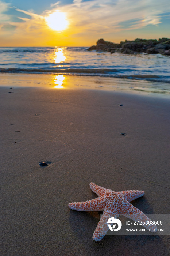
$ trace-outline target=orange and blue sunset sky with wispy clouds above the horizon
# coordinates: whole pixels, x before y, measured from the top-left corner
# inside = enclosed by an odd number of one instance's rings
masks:
[[[170,38],[169,0],[0,0],[0,46]]]

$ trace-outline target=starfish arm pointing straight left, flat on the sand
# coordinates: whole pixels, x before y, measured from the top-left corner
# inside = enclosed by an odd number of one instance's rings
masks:
[[[90,201],[70,203],[69,207],[76,211],[103,211],[105,204],[100,197],[97,197]]]

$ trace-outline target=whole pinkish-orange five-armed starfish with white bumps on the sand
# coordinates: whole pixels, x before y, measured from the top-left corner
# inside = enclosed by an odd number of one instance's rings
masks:
[[[93,233],[93,240],[100,241],[109,230],[109,226],[107,225],[108,219],[111,217],[117,218],[120,214],[134,221],[144,221],[144,225],[142,226],[146,229],[157,229],[154,224],[146,224],[152,223],[151,220],[142,211],[129,203],[143,196],[144,191],[126,190],[115,192],[111,189],[98,186],[95,183],[90,183],[90,188],[99,197],[86,202],[70,203],[69,207],[76,211],[103,211],[101,219]]]

